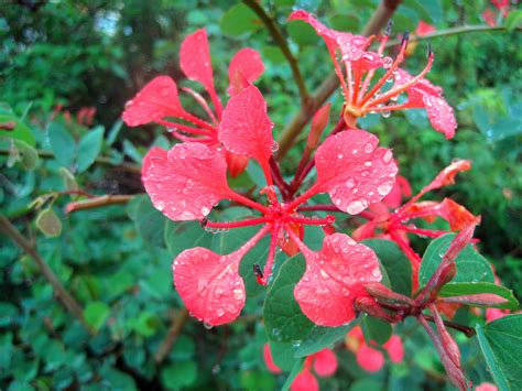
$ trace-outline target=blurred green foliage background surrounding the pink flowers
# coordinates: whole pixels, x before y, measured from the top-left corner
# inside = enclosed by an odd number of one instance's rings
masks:
[[[329,26],[359,32],[379,1],[260,3],[280,24],[307,88],[314,90],[331,72],[331,62],[311,28],[285,22],[290,12],[303,8]],[[393,15],[393,34],[413,34],[421,21],[437,32],[463,25],[491,28],[431,40],[435,63],[428,77],[444,88],[456,110],[455,139],[447,141],[434,132],[423,110],[394,112],[385,121],[373,115],[361,124],[378,134],[381,144],[393,148],[414,193],[453,159],[472,161],[472,170],[459,174],[456,185],[426,199],[452,196],[482,216],[479,248],[520,298],[522,40],[516,25],[522,17],[515,1],[507,3],[500,10],[486,0],[405,0]],[[272,390],[284,381],[268,371],[262,358],[267,340],[260,322],[262,292],[228,326],[208,330],[178,316],[182,304],[170,265],[183,246],[194,246],[192,233],[184,236],[187,227],[165,224],[141,196],[85,211],[64,210],[81,192],[143,193],[139,175],[143,154],[153,144],[168,148],[173,140],[159,127],[126,128],[120,121],[124,102],[156,75],[170,75],[183,85],[180,44],[199,28],[207,29],[216,89],[222,99],[233,53],[243,46],[261,53],[267,70],[257,85],[268,100],[274,133],[280,134],[298,110],[298,90],[280,47],[243,3],[2,2],[0,122],[17,127],[0,130],[0,213],[80,303],[95,333],[89,335],[56,301],[37,262],[2,236],[1,389]],[[412,39],[405,63],[411,73],[424,67],[426,45]],[[341,98],[337,93],[330,100],[335,118]],[[302,148],[285,158],[285,174],[295,170]],[[255,172],[248,170],[235,181],[236,186],[249,186],[255,183]],[[170,236],[177,241],[170,241]],[[421,249],[425,242],[414,246]],[[369,374],[358,368],[352,352],[337,346],[339,368],[334,377],[320,379],[323,389],[449,388],[427,339],[413,325],[403,327],[403,362]],[[175,341],[168,339],[173,335]],[[476,344],[461,343],[466,368],[476,379],[487,380]],[[160,354],[162,347],[167,349]]]

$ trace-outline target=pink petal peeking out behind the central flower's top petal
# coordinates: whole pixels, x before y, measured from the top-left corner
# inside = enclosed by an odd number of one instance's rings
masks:
[[[258,51],[250,47],[240,50],[228,66],[228,94],[238,94],[247,88],[264,72],[264,65]]]

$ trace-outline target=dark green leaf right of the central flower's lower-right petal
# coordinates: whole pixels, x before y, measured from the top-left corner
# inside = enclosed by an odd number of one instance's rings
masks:
[[[412,264],[394,241],[368,239],[363,245],[372,249],[387,271],[390,289],[405,296],[412,294]]]

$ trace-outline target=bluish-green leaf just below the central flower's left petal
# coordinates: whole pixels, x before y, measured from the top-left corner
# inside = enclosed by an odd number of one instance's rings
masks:
[[[148,195],[133,197],[127,210],[145,243],[164,247],[165,217],[152,206]]]

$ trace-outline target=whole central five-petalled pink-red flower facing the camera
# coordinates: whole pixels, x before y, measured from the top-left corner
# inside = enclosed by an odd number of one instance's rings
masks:
[[[269,159],[272,155],[272,122],[261,93],[249,86],[233,96],[222,112],[218,139],[225,150],[255,159],[263,169],[269,205],[261,205],[227,184],[224,151],[204,143],[181,143],[170,151],[153,148],[143,160],[142,181],[153,205],[173,220],[200,220],[209,228],[262,225],[259,232],[230,254],[204,248],[183,251],[174,261],[174,283],[189,312],[209,325],[220,325],[239,316],[244,304],[244,284],[238,268],[241,258],[267,233],[269,256],[259,280],[267,283],[275,248],[286,232],[304,253],[306,273],[295,287],[297,303],[314,322],[340,325],[355,317],[354,301],[367,295],[366,281],[380,281],[376,254],[346,235],[327,236],[323,249],[313,252],[295,233],[295,225],[329,225],[333,216],[307,218],[300,205],[319,193],[328,193],[334,204],[348,214],[358,214],[380,202],[393,187],[396,165],[392,152],[378,148],[377,137],[362,130],[347,130],[329,137],[315,154],[317,181],[304,194],[280,203],[272,186]],[[235,222],[211,222],[206,216],[220,200],[231,199],[261,214]],[[346,268],[347,263],[349,268]],[[338,278],[341,278],[339,280]],[[314,292],[307,296],[306,292]],[[324,297],[324,300],[320,300]],[[329,309],[328,309],[329,308]],[[330,311],[330,312],[327,312]]]

